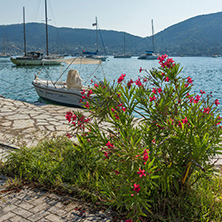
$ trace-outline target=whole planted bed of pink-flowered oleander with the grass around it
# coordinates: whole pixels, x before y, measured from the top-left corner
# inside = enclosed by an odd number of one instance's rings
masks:
[[[3,171],[58,189],[76,187],[132,221],[220,221],[219,101],[166,55],[159,69],[82,91],[88,114],[68,112],[67,137],[9,156]],[[86,100],[85,100],[86,99]]]

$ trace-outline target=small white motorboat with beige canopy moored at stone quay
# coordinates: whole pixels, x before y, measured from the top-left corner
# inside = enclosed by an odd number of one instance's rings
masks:
[[[83,57],[69,58],[58,60],[67,64],[101,64],[101,60],[88,59]],[[96,67],[97,69],[98,67]],[[60,73],[57,81],[39,79],[36,77],[32,84],[39,95],[45,101],[52,103],[58,103],[67,106],[78,106],[81,107],[82,99],[81,92],[88,89],[84,86],[82,79],[77,70],[70,69],[66,78],[66,82],[61,81],[61,77],[64,73]]]

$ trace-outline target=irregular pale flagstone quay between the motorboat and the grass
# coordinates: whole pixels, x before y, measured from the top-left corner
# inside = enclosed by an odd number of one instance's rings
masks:
[[[0,98],[0,143],[30,147],[44,138],[64,135],[69,129],[65,114],[73,109]]]

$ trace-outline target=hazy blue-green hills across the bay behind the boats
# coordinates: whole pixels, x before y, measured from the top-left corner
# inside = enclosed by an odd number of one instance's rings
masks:
[[[95,51],[96,31],[91,29],[57,28],[49,26],[50,53],[81,53]],[[3,41],[7,50],[20,53],[23,49],[23,24],[0,26],[0,52]],[[142,38],[126,33],[126,52],[140,55],[152,50],[152,38]],[[45,51],[45,25],[26,24],[27,50]],[[155,35],[155,49],[160,54],[183,56],[211,56],[222,54],[222,12],[200,15],[173,26]],[[19,51],[18,48],[21,50]],[[100,30],[99,51],[115,54],[123,51],[123,32]]]

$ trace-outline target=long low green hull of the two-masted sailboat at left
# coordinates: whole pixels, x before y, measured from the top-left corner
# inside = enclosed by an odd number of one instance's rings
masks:
[[[17,66],[42,66],[42,65],[60,65],[61,62],[57,61],[55,59],[55,61],[53,61],[52,59],[50,59],[50,61],[46,61],[44,59],[44,62],[42,61],[42,59],[25,59],[25,58],[10,58],[11,62],[14,63]]]

